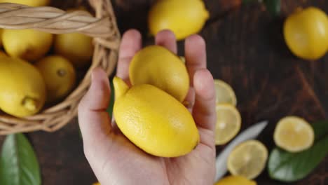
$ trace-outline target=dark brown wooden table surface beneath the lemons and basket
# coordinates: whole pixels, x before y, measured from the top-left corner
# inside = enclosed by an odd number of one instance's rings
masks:
[[[146,12],[151,0],[115,0],[121,32],[137,28],[146,35]],[[226,0],[229,2],[229,0]],[[237,2],[231,0],[231,3]],[[294,57],[282,39],[282,18],[274,18],[260,4],[229,10],[217,0],[205,1],[211,18],[200,34],[207,42],[208,68],[214,78],[230,83],[238,97],[242,130],[261,120],[270,124],[260,136],[273,148],[273,129],[283,116],[308,121],[328,116],[328,55],[308,62]],[[297,6],[317,6],[328,13],[328,1],[283,1],[283,15]],[[144,39],[153,43],[153,39]],[[183,43],[179,43],[182,52]],[[28,134],[41,163],[43,184],[92,184],[96,181],[83,155],[77,120],[55,133]],[[0,142],[4,137],[0,137]],[[294,184],[328,184],[328,158],[310,176]],[[258,184],[281,184],[264,171]]]

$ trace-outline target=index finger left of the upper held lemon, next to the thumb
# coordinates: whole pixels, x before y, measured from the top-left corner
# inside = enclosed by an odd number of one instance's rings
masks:
[[[136,29],[130,29],[123,34],[118,54],[116,76],[129,83],[129,65],[132,57],[142,48],[142,36]]]

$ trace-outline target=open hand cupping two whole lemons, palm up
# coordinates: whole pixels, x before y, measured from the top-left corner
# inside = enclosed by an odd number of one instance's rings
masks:
[[[175,36],[170,31],[158,33],[156,44],[177,53]],[[130,61],[141,48],[139,32],[125,32],[116,76],[128,84]],[[205,41],[200,36],[186,39],[185,57],[191,80],[186,102],[198,126],[200,144],[178,158],[144,153],[120,132],[106,112],[109,101],[113,101],[109,100],[108,78],[102,69],[94,69],[90,89],[78,106],[78,122],[86,158],[101,184],[213,184],[215,93],[212,75],[206,69]]]

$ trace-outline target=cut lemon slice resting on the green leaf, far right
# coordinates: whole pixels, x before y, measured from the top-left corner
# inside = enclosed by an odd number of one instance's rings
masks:
[[[303,118],[287,116],[275,127],[275,144],[289,152],[299,152],[310,148],[314,142],[314,131]]]

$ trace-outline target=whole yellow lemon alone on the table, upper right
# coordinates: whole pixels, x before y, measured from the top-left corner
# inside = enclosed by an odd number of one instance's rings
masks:
[[[328,50],[328,18],[319,8],[299,8],[284,24],[287,46],[294,55],[317,60]]]

